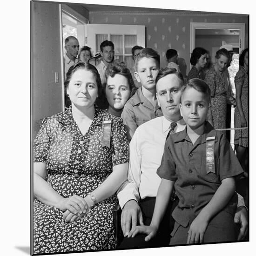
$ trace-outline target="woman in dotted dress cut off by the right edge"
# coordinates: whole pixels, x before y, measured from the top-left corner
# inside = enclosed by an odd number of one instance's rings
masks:
[[[236,86],[236,109],[234,116],[235,128],[248,127],[248,55],[249,49],[243,50],[239,57],[240,69],[235,76]],[[235,130],[235,149],[236,156],[248,176],[248,129]]]

